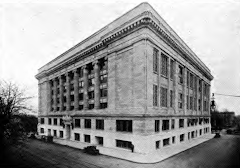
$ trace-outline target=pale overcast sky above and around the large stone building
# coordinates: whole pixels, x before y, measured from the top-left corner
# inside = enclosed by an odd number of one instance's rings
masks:
[[[0,80],[34,98],[38,69],[143,1],[0,0]],[[240,1],[147,1],[209,67],[211,92],[240,95]],[[215,94],[219,110],[240,115],[240,97]]]

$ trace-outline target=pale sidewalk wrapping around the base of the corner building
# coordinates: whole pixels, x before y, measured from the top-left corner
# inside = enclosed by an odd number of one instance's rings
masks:
[[[132,161],[132,162],[137,162],[137,163],[156,163],[156,162],[165,160],[173,155],[176,155],[180,152],[183,152],[187,149],[190,149],[196,145],[199,145],[205,141],[208,141],[213,137],[214,137],[214,134],[204,135],[196,139],[191,139],[190,141],[182,142],[181,144],[162,147],[156,150],[156,152],[152,152],[148,154],[132,153],[130,151],[116,150],[113,148],[106,148],[101,146],[97,146],[97,148],[100,150],[100,153],[104,155]],[[62,145],[80,148],[80,149],[83,149],[84,147],[89,146],[89,144],[78,143],[75,141],[61,140],[61,139],[55,139],[54,142]]]

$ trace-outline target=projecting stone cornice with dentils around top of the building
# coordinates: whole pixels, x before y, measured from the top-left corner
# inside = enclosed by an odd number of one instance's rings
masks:
[[[197,58],[196,55],[188,48],[185,47],[186,44],[182,44],[183,41],[179,41],[167,28],[161,24],[161,22],[149,11],[145,11],[139,15],[139,17],[134,18],[135,21],[131,20],[131,24],[128,23],[127,25],[121,25],[117,29],[110,32],[111,34],[107,33],[107,36],[103,36],[100,41],[97,41],[90,46],[86,47],[85,49],[75,53],[70,58],[63,60],[58,65],[39,72],[36,75],[37,79],[41,79],[46,77],[50,74],[53,74],[69,65],[78,62],[81,59],[84,59],[104,48],[106,48],[109,44],[113,43],[114,41],[127,36],[128,34],[143,28],[147,27],[153,30],[157,35],[159,35],[166,43],[168,43],[176,52],[178,52],[185,60],[189,61],[195,68],[199,69],[203,72],[204,76],[206,76],[209,80],[213,79],[209,69],[202,63],[202,61]]]

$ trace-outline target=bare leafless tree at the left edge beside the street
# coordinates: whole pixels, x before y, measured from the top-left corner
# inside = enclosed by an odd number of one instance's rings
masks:
[[[17,142],[24,134],[23,123],[16,117],[23,110],[31,110],[24,90],[12,82],[0,81],[0,145]]]

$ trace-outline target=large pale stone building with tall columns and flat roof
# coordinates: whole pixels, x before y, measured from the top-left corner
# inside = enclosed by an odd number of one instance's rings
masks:
[[[148,3],[41,67],[36,78],[38,132],[57,143],[96,145],[126,158],[210,134],[213,76]]]

